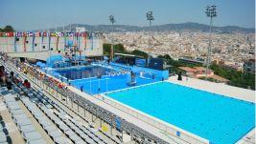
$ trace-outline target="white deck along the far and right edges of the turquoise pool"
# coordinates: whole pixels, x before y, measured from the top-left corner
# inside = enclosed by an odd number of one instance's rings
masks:
[[[230,96],[233,98],[255,103],[255,91],[252,90],[185,76],[182,77],[182,81],[178,81],[177,76],[169,77],[167,81],[202,91],[218,93],[225,96]],[[249,133],[245,134],[244,137],[242,137],[238,142],[236,142],[236,144],[255,144],[255,141],[256,140],[254,128]]]

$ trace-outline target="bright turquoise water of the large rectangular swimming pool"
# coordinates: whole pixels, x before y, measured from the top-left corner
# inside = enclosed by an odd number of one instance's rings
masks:
[[[255,127],[254,103],[169,82],[107,93],[107,96],[211,143],[235,143]]]

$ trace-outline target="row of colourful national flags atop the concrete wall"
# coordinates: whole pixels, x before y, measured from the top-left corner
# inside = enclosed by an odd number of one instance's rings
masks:
[[[0,37],[63,37],[63,36],[76,36],[76,37],[102,37],[100,32],[46,32],[46,31],[24,31],[24,32],[0,32]]]

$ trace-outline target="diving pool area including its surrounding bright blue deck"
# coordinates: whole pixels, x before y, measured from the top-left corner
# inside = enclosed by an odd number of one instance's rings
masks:
[[[72,57],[71,60],[85,59],[84,56]],[[139,60],[142,63],[145,61]],[[138,66],[127,66],[110,62],[92,63],[88,66],[62,67],[65,59],[61,55],[53,55],[47,59],[47,72],[67,84],[89,94],[107,93],[129,87],[149,84],[168,79],[169,71],[159,71]],[[83,61],[85,62],[85,61]],[[58,67],[56,67],[58,65]],[[61,69],[58,69],[61,68]],[[131,74],[132,73],[132,74]]]

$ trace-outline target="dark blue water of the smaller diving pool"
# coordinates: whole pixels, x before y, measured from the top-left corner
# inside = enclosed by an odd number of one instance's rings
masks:
[[[95,77],[99,75],[106,75],[106,72],[115,72],[112,69],[107,69],[100,66],[87,66],[77,67],[71,69],[57,70],[61,76],[68,78],[69,80]]]

